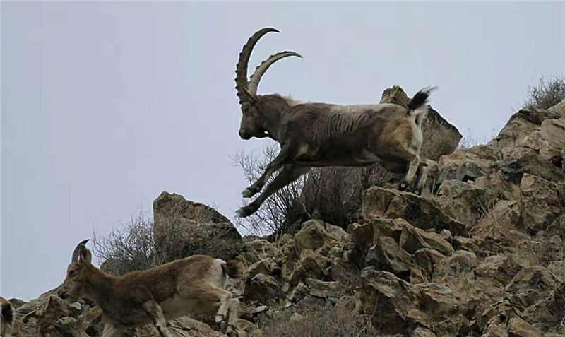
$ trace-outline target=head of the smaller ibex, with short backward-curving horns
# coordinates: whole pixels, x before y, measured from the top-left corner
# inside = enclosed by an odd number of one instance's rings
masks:
[[[78,298],[84,295],[84,280],[88,277],[92,261],[92,254],[85,246],[86,242],[88,239],[79,243],[73,252],[71,264],[66,269],[66,278],[59,286],[58,294],[62,299]]]

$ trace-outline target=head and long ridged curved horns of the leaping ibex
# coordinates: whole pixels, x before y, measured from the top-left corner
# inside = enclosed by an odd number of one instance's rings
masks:
[[[243,46],[242,52],[239,53],[239,61],[235,69],[235,88],[237,89],[237,97],[239,97],[239,104],[242,105],[243,112],[242,123],[239,127],[239,136],[245,140],[251,137],[272,137],[272,135],[269,135],[267,132],[264,118],[265,112],[262,111],[263,107],[261,107],[257,95],[257,88],[263,74],[271,65],[280,59],[290,56],[302,57],[296,52],[280,52],[273,54],[255,69],[255,73],[251,75],[248,82],[247,65],[249,63],[249,57],[258,40],[268,32],[279,31],[275,28],[263,28],[251,36]]]

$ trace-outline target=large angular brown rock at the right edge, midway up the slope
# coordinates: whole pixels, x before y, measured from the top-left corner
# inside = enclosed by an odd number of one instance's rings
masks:
[[[534,175],[524,174],[520,184],[523,226],[529,232],[545,229],[564,209],[559,185]],[[561,187],[562,189],[562,187]]]

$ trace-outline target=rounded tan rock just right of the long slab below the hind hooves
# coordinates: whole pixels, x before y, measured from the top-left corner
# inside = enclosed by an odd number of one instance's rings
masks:
[[[486,191],[477,184],[444,180],[437,194],[444,212],[462,223],[476,223],[487,208]]]

